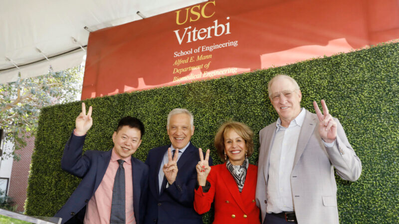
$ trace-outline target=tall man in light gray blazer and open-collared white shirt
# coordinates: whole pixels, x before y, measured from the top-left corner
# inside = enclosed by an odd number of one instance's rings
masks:
[[[323,113],[300,107],[302,93],[289,76],[268,84],[269,99],[279,115],[259,132],[256,204],[267,224],[338,224],[334,168],[344,180],[356,181],[362,163],[341,123],[324,100]]]

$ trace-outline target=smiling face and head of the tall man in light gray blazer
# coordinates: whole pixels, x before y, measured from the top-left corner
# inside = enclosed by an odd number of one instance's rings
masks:
[[[270,92],[270,102],[281,119],[281,125],[288,127],[301,112],[301,91],[287,78],[279,78],[270,86]]]

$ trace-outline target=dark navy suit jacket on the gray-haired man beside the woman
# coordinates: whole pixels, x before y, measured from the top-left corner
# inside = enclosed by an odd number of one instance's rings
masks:
[[[194,210],[194,190],[197,182],[196,165],[200,161],[198,148],[191,142],[180,156],[176,181],[159,192],[158,173],[165,152],[171,145],[153,148],[148,152],[149,196],[146,224],[202,224],[202,216]],[[209,158],[209,165],[212,159]]]

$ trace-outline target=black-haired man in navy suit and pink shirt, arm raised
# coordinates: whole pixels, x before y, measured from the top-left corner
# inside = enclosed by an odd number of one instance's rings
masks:
[[[61,168],[83,179],[55,217],[61,217],[62,224],[143,224],[148,166],[132,154],[141,144],[144,125],[139,119],[126,116],[112,135],[111,150],[86,151],[82,155],[86,133],[93,124],[91,113],[92,107],[86,114],[82,103],[76,128],[65,145]],[[120,194],[121,185],[124,194]]]

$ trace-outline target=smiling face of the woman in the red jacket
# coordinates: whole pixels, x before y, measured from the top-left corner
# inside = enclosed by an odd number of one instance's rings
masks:
[[[245,140],[235,132],[234,129],[228,129],[223,134],[224,152],[230,163],[233,165],[242,165],[245,159],[246,144]]]

